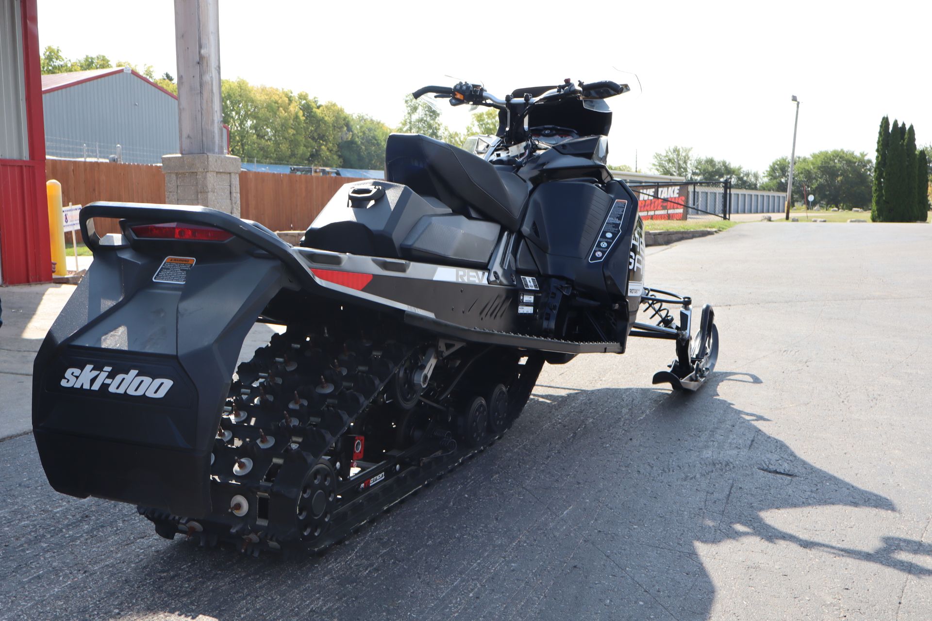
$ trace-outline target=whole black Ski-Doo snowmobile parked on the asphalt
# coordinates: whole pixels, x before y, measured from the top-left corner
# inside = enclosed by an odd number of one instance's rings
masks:
[[[712,308],[693,337],[690,298],[645,285],[637,199],[606,168],[627,90],[421,88],[500,111],[484,156],[393,134],[386,181],[345,185],[297,247],[212,209],[82,209],[94,262],[34,367],[52,487],[168,538],[319,550],[498,439],[544,362],[670,339],[653,382],[695,390]],[[237,367],[257,320],[287,331]]]

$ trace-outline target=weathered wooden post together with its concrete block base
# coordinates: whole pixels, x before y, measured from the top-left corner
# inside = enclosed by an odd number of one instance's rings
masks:
[[[165,199],[240,215],[240,158],[226,155],[218,0],[175,0],[178,155],[162,156]]]

